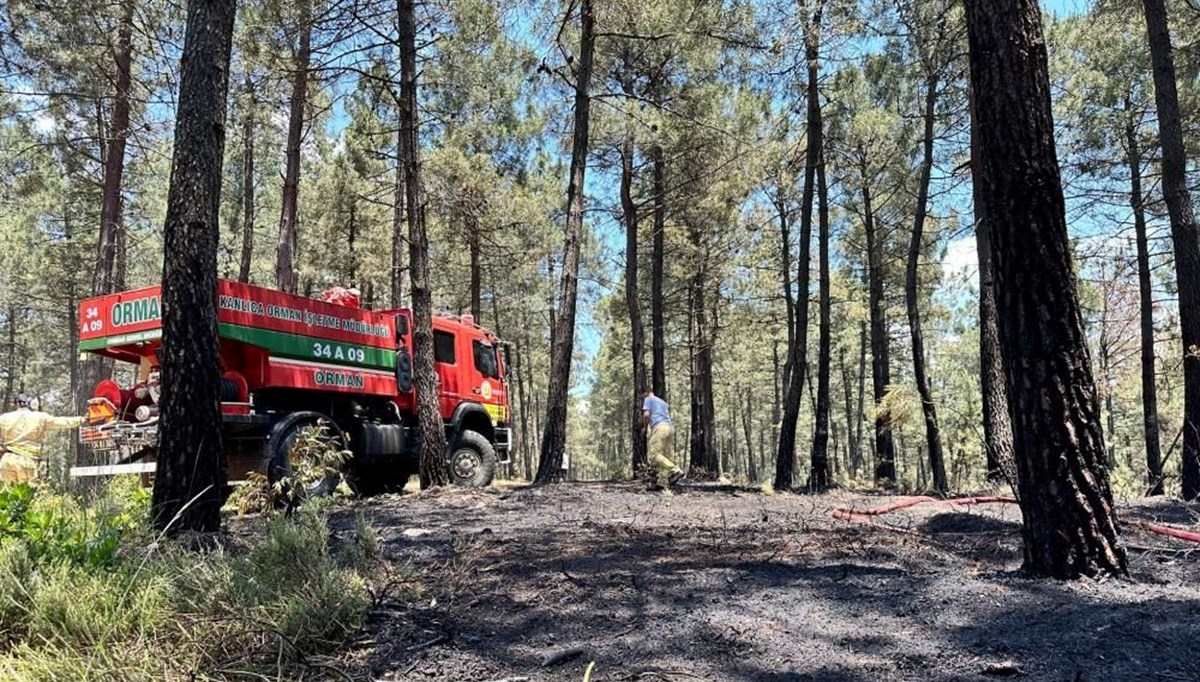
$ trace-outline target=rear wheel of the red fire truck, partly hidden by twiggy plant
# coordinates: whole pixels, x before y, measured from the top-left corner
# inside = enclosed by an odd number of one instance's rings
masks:
[[[342,480],[346,438],[328,417],[296,412],[277,421],[266,439],[266,480],[282,504],[332,495]]]

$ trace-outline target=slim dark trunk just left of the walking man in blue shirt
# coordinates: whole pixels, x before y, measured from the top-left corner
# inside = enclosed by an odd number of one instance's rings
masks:
[[[632,83],[625,84],[626,95]],[[637,204],[634,203],[634,128],[625,130],[620,152],[620,207],[625,222],[625,311],[629,315],[630,354],[632,360],[634,395],[630,403],[630,438],[632,472],[638,477],[646,471],[646,430],[642,427],[642,394],[646,393],[646,330],[642,328],[642,305],[637,293]]]

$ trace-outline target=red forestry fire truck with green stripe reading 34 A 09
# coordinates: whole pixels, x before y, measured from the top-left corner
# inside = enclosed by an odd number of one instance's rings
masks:
[[[342,475],[360,495],[402,487],[418,469],[420,443],[412,311],[361,310],[356,301],[340,305],[228,280],[217,288],[230,480],[253,471],[271,481],[293,480],[299,460],[312,456],[298,443],[317,435],[350,456],[305,480],[304,495],[328,493]],[[80,435],[96,461],[77,467],[76,475],[152,471],[161,315],[160,287],[80,304],[80,351],[131,364],[126,373],[133,378],[96,387]],[[433,342],[451,478],[488,485],[497,463],[509,461],[508,346],[470,316],[450,315],[433,319]]]

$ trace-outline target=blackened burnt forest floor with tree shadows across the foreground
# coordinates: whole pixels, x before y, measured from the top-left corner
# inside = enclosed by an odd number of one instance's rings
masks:
[[[355,680],[1200,680],[1200,545],[1132,526],[1200,508],[1122,505],[1132,580],[1020,570],[1014,505],[690,486],[564,484],[389,496],[366,515],[400,580],[342,660]],[[415,573],[413,573],[415,572]]]

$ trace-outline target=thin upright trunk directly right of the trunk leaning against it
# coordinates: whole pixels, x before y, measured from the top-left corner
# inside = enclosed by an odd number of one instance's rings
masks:
[[[820,7],[820,6],[818,6]],[[820,76],[820,40],[821,14],[818,8],[815,23],[805,34],[805,52],[809,62],[809,145],[816,148],[817,174],[817,267],[821,277],[817,337],[817,399],[816,425],[812,431],[812,451],[810,460],[809,489],[820,491],[832,484],[829,463],[829,353],[832,346],[832,321],[829,297],[829,187],[826,183],[824,122],[821,115],[821,100],[817,90]]]

